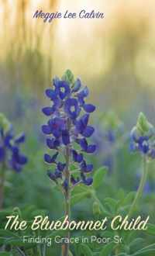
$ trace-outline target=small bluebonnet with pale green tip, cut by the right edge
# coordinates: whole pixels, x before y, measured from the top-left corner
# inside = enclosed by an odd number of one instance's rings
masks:
[[[140,113],[137,124],[133,127],[130,135],[131,151],[139,151],[146,157],[155,158],[155,130],[143,113]]]

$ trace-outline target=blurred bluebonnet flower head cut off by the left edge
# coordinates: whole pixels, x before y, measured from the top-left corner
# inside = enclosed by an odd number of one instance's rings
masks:
[[[5,164],[14,171],[21,171],[27,163],[27,157],[19,150],[20,144],[24,143],[25,134],[15,137],[12,125],[0,113],[0,164]]]

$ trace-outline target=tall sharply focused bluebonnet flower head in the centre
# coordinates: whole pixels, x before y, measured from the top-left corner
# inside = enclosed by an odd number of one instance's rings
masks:
[[[45,94],[51,103],[42,110],[50,119],[42,126],[42,131],[47,135],[47,147],[53,150],[53,155],[45,154],[44,160],[55,166],[47,175],[64,189],[70,183],[91,185],[93,179],[88,174],[93,171],[93,165],[86,163],[84,154],[93,154],[96,149],[95,144],[88,144],[88,137],[95,131],[88,125],[95,106],[85,102],[88,88],[81,85],[80,79],[74,81],[71,71],[67,71],[62,79],[53,79],[53,88],[47,88]],[[68,179],[69,164],[76,165],[78,175],[70,173]]]

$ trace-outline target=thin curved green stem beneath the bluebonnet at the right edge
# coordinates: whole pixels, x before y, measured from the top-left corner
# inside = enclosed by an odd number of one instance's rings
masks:
[[[144,185],[146,183],[147,173],[148,173],[148,168],[147,168],[147,163],[146,163],[146,157],[143,157],[143,175],[141,177],[140,185],[139,185],[139,188],[136,192],[135,199],[133,200],[133,204],[132,204],[132,206],[129,210],[128,216],[132,216],[132,214],[135,210],[135,206],[136,206],[137,202],[139,201],[139,199],[140,199],[140,197],[143,193],[143,188],[144,188]]]

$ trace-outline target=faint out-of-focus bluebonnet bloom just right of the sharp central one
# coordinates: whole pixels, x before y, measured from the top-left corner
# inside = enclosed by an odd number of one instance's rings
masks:
[[[115,112],[108,111],[102,114],[95,127],[93,141],[97,145],[95,153],[98,159],[97,163],[106,166],[109,173],[112,173],[114,169],[114,154],[118,154],[119,148],[125,143],[124,138],[123,124]],[[118,143],[119,140],[122,144]]]

